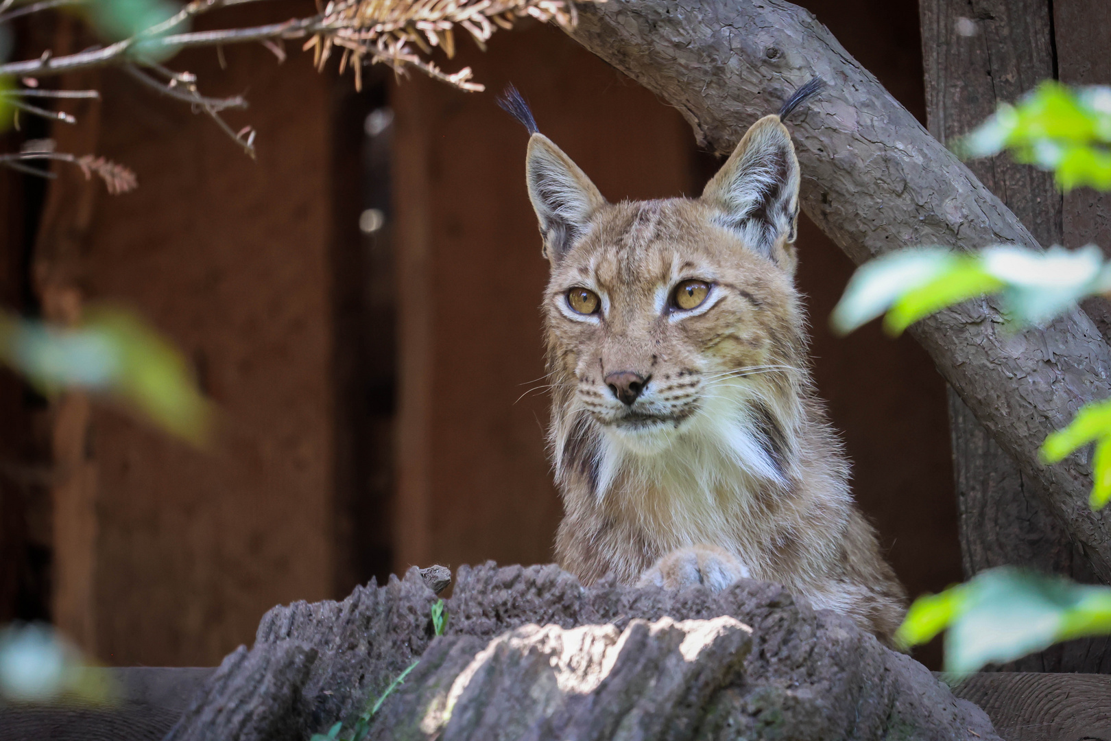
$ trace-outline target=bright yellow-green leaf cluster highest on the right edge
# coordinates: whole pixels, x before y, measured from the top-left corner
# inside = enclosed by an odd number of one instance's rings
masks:
[[[1111,88],[1069,88],[1047,80],[1015,106],[957,140],[953,151],[969,159],[1004,149],[1015,161],[1055,173],[1064,190],[1111,189]]]

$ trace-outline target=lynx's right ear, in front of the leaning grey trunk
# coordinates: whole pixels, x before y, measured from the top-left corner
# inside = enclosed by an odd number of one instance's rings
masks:
[[[714,219],[719,226],[793,272],[799,179],[791,134],[778,116],[765,116],[707,183],[702,200],[719,211]]]

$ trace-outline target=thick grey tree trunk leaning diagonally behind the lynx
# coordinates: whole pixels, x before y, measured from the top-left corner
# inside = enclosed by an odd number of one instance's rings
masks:
[[[802,208],[855,262],[922,244],[1039,246],[810,12],[781,0],[608,0],[579,12],[573,38],[678,108],[718,152],[792,90],[824,80],[827,90],[789,121]],[[1050,432],[1111,397],[1111,348],[1092,320],[1077,310],[1014,333],[992,301],[978,300],[911,332],[1111,581],[1111,514],[1088,507],[1088,452],[1051,467],[1038,460]]]

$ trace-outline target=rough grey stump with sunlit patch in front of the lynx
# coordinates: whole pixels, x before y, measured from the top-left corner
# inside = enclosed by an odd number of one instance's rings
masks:
[[[442,637],[417,569],[274,608],[167,741],[303,741],[418,658],[372,739],[999,739],[924,667],[777,584],[583,588],[554,565],[493,563],[458,578]]]

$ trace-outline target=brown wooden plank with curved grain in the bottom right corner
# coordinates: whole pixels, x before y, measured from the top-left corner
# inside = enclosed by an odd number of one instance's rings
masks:
[[[1111,739],[1111,677],[981,673],[953,688],[991,718],[1007,741]]]

